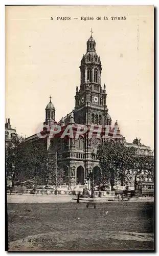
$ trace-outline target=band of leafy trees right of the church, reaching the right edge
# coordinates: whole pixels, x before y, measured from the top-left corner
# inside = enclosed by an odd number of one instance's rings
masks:
[[[137,156],[134,147],[126,147],[124,144],[105,142],[98,147],[98,159],[102,171],[101,182],[115,184],[115,179],[121,185],[132,173],[137,177],[143,174],[153,179],[154,159],[152,156]]]

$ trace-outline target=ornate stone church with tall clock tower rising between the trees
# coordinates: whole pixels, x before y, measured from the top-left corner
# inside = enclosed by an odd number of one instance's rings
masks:
[[[96,53],[96,41],[92,37],[86,42],[86,53],[83,55],[80,64],[80,88],[76,87],[75,95],[75,108],[65,117],[62,117],[59,122],[55,121],[55,106],[51,101],[46,107],[46,121],[44,126],[58,124],[61,126],[61,130],[64,131],[67,125],[72,125],[73,131],[77,131],[78,124],[87,125],[90,129],[91,125],[101,125],[104,129],[104,125],[109,125],[110,133],[107,140],[118,141],[126,144],[126,146],[133,146],[132,143],[127,143],[125,138],[120,134],[118,122],[114,125],[111,123],[111,117],[108,114],[106,104],[106,86],[101,85],[102,64],[100,56]],[[117,129],[116,129],[117,128]],[[116,136],[113,136],[113,131],[116,129]],[[103,131],[103,130],[102,130]],[[45,143],[50,156],[57,152],[57,163],[62,164],[65,169],[64,183],[74,186],[76,184],[83,185],[88,177],[88,174],[94,169],[95,183],[99,179],[100,167],[97,159],[97,147],[99,143],[103,143],[102,136],[97,138],[94,133],[92,138],[88,136],[80,135],[79,138],[70,138],[65,136],[64,138],[49,136],[49,131],[43,128],[42,131],[45,137]],[[37,134],[26,138],[26,142],[39,141]],[[135,145],[140,148],[142,145]],[[144,145],[143,145],[144,146]],[[151,154],[150,147],[144,146],[148,154]],[[146,154],[146,153],[143,153]],[[131,182],[133,185],[133,181]]]

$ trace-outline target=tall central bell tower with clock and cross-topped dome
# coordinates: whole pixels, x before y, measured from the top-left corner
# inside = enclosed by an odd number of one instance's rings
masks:
[[[80,89],[76,87],[74,118],[75,123],[79,124],[105,125],[108,124],[106,86],[104,84],[104,88],[101,87],[102,65],[100,56],[96,53],[96,41],[92,33],[91,29],[86,42],[86,54],[81,59]]]

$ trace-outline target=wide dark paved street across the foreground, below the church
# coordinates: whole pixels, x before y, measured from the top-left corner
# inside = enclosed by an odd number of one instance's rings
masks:
[[[10,251],[153,250],[153,202],[8,203]]]

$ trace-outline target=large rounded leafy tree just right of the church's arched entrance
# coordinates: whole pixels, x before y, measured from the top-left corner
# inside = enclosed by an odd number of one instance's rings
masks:
[[[115,179],[120,180],[123,185],[126,169],[133,166],[132,159],[135,155],[135,149],[126,147],[121,143],[105,142],[99,146],[97,154],[102,170],[102,180],[110,182],[111,190],[115,184]]]

